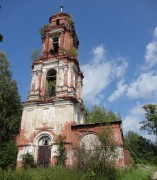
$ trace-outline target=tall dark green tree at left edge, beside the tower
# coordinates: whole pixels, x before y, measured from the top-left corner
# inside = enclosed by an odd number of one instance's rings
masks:
[[[21,119],[20,95],[15,80],[12,80],[10,64],[6,55],[0,51],[0,154],[5,154],[10,141],[19,133]],[[14,148],[13,148],[14,149]],[[12,153],[10,151],[10,153]],[[16,152],[15,152],[16,154]],[[9,155],[5,157],[9,158]],[[16,157],[16,156],[14,156]],[[4,158],[0,158],[0,165]],[[10,164],[11,165],[11,164]],[[9,166],[9,164],[8,164]],[[12,166],[12,165],[11,165]],[[3,166],[2,166],[3,167]]]

